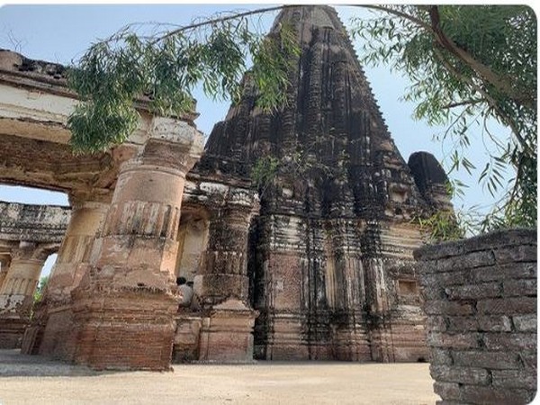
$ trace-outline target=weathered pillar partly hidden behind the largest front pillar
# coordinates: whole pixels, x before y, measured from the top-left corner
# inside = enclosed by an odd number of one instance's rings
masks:
[[[24,335],[22,352],[69,360],[73,356],[71,292],[88,267],[90,252],[103,226],[111,197],[70,193],[71,218],[58,250],[43,299]]]

